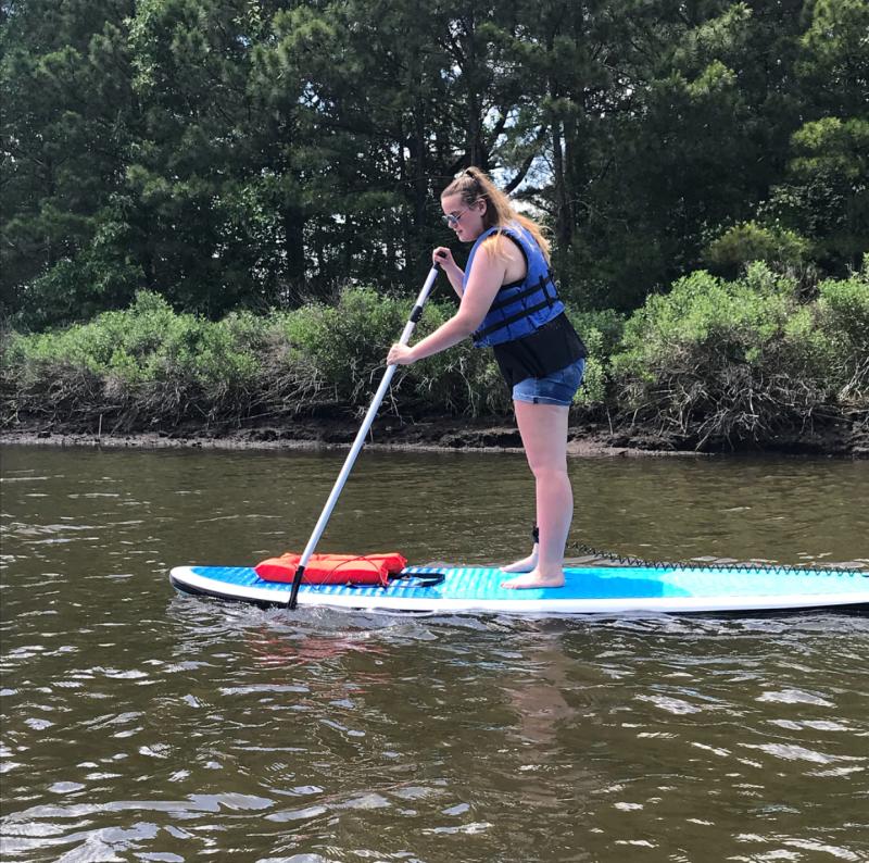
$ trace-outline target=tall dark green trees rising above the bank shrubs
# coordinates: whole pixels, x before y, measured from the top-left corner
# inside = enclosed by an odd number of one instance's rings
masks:
[[[844,278],[869,243],[861,0],[0,14],[0,313],[22,329],[140,289],[214,321],[399,293],[452,241],[438,193],[471,163],[546,223],[581,309],[758,257]]]

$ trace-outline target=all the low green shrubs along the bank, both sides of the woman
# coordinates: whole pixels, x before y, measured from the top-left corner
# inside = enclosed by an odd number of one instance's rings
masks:
[[[696,446],[763,442],[824,412],[869,410],[869,261],[806,301],[796,279],[751,264],[728,282],[705,271],[651,297],[627,321],[570,311],[589,348],[575,405],[676,433]],[[242,423],[364,411],[411,311],[374,288],[218,322],[139,292],[126,310],[52,333],[3,337],[3,412],[106,430]],[[415,338],[454,311],[430,301]],[[468,341],[396,370],[383,408],[400,414],[507,413],[491,352]]]

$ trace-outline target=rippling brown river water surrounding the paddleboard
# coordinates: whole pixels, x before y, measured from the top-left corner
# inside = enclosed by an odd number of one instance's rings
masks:
[[[2,450],[3,861],[866,861],[869,617],[389,617],[176,596],[301,550],[340,452]],[[869,567],[869,463],[574,459],[572,537]],[[521,456],[364,452],[323,550],[524,554]]]

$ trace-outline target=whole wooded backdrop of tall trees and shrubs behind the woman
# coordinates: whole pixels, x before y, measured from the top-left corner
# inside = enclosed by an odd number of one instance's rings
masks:
[[[866,432],[865,0],[0,18],[5,428],[357,409],[431,248],[464,253],[439,192],[475,164],[551,232],[582,416],[697,448]],[[403,371],[391,410],[499,414],[502,390],[463,347]]]

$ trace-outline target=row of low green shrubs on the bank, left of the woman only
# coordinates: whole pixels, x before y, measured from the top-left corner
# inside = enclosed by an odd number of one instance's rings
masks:
[[[453,311],[429,302],[416,336]],[[103,312],[88,324],[8,333],[3,367],[13,395],[3,423],[20,413],[62,422],[105,414],[115,429],[141,429],[324,407],[364,410],[410,312],[407,301],[354,288],[336,305],[236,312],[210,322],[140,291],[129,309]],[[491,355],[464,345],[398,370],[387,410],[479,414],[508,405]]]

